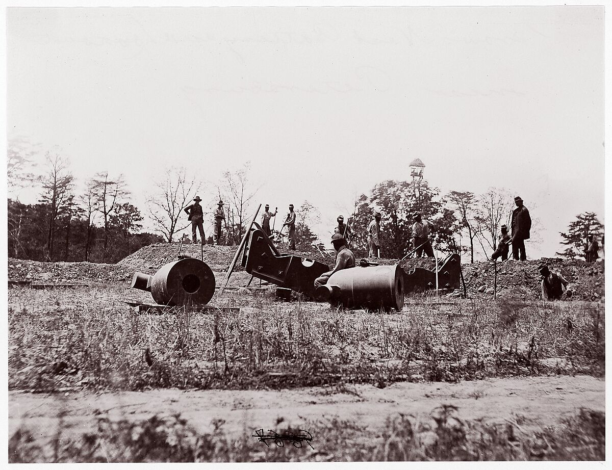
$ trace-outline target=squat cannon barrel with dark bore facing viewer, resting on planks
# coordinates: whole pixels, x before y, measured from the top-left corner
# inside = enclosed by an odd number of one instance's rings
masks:
[[[135,272],[132,287],[151,292],[157,304],[206,305],[215,293],[212,269],[196,258],[165,264],[153,276]]]

